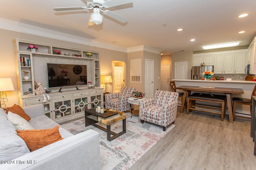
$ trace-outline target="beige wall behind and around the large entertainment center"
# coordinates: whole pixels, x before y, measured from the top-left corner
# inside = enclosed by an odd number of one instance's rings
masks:
[[[50,39],[46,37],[40,37],[36,35],[30,35],[25,33],[19,33],[15,31],[8,31],[6,29],[0,29],[0,78],[11,78],[14,85],[14,91],[6,92],[8,102],[6,102],[6,107],[10,107],[14,104],[18,104],[18,85],[17,85],[17,75],[16,75],[16,65],[15,65],[15,55],[14,55],[14,43],[13,39],[26,39],[30,41],[38,41],[42,43],[50,43],[55,45],[62,45],[66,47],[73,47],[78,49],[88,49],[90,51],[100,52],[100,71],[102,75],[112,75],[112,60],[127,62],[127,53],[113,51],[108,49],[102,49],[98,47],[92,47],[82,44],[70,43],[67,41],[60,41],[55,39]],[[36,69],[36,68],[34,68]],[[103,84],[102,84],[103,85]],[[109,92],[112,91],[112,84],[109,84]]]

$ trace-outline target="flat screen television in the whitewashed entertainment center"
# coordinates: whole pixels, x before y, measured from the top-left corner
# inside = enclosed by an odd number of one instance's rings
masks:
[[[48,87],[87,84],[86,65],[47,63]]]

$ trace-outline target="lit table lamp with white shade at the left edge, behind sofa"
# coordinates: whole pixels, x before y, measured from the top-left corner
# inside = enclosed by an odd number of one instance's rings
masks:
[[[0,108],[5,108],[5,103],[8,102],[4,91],[14,90],[11,78],[0,78]],[[3,107],[2,107],[3,106]]]

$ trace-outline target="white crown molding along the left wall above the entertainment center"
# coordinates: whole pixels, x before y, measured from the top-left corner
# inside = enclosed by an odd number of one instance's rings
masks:
[[[127,53],[127,48],[0,18],[0,28]]]

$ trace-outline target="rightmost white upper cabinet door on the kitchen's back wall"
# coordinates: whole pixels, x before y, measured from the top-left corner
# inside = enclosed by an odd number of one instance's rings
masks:
[[[236,53],[235,55],[235,67],[234,67],[234,73],[235,74],[246,74],[245,73],[245,62],[246,60],[246,53]]]

